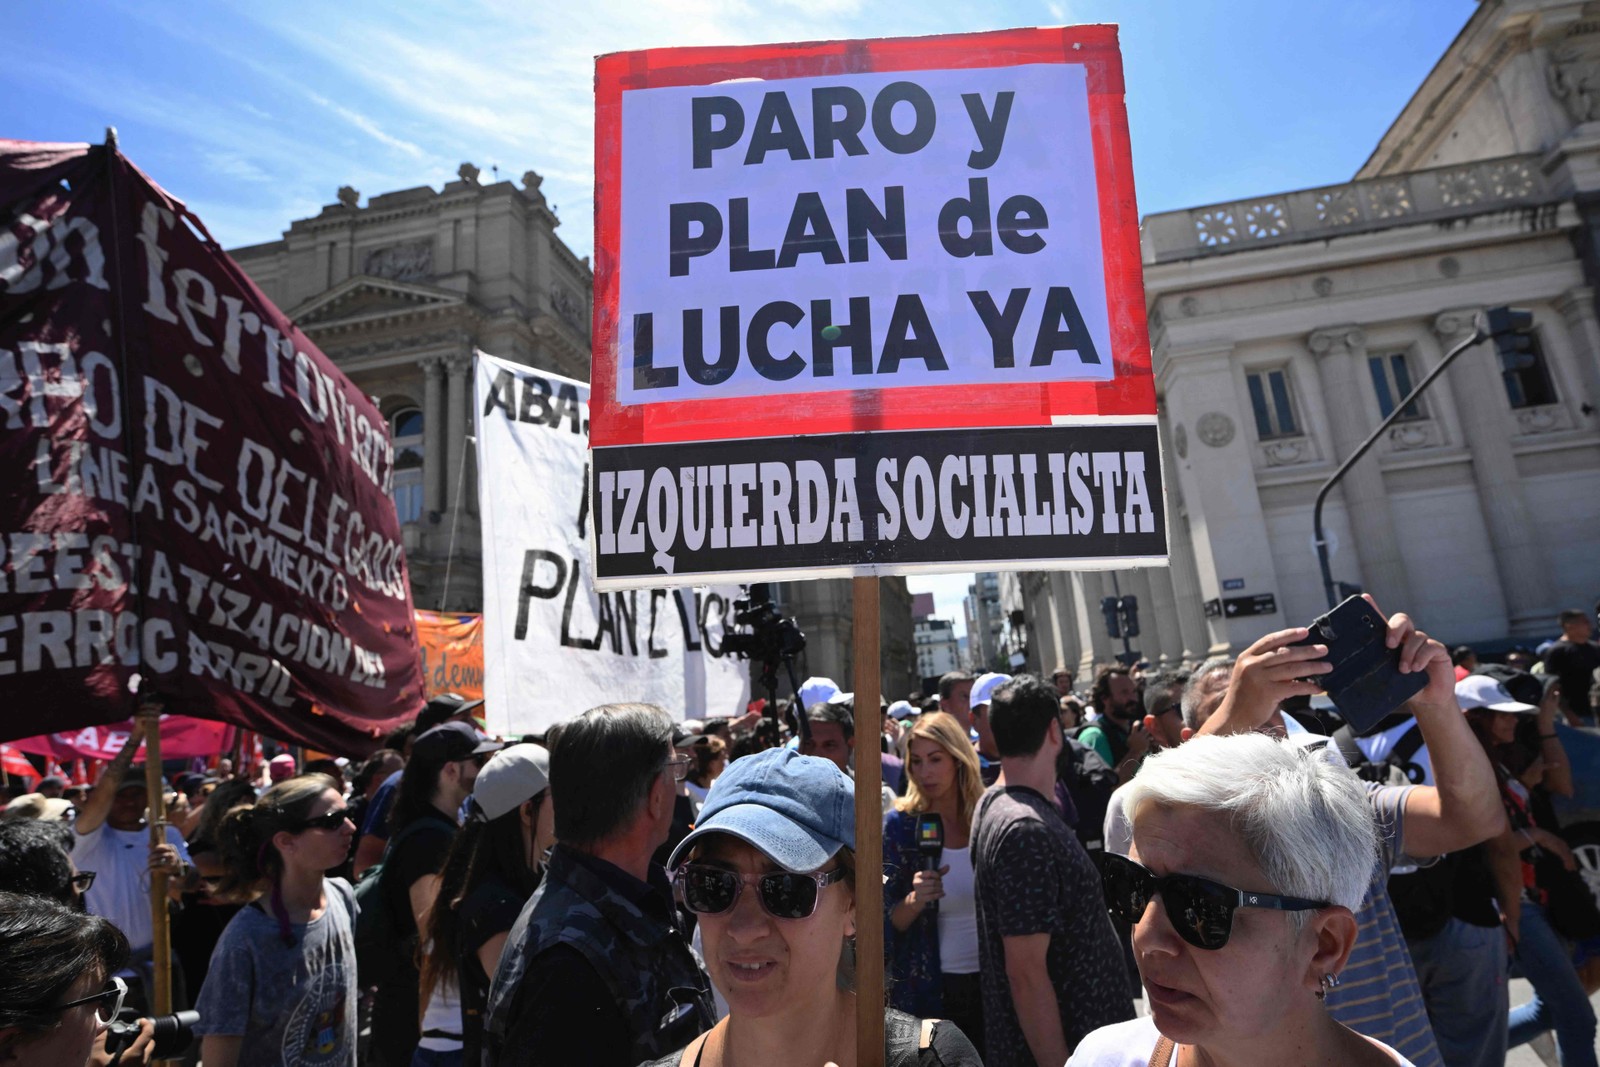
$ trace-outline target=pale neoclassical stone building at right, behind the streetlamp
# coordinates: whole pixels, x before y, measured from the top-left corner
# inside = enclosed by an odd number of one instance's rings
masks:
[[[1238,651],[1325,609],[1312,501],[1490,306],[1533,366],[1467,350],[1342,480],[1334,577],[1504,646],[1600,595],[1600,18],[1482,0],[1352,181],[1144,219],[1171,568],[1010,582],[1029,661]],[[1272,595],[1262,614],[1229,598]],[[1235,611],[1242,605],[1235,605]]]

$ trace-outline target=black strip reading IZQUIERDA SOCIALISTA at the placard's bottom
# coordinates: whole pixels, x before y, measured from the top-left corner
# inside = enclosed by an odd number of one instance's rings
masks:
[[[1155,426],[594,450],[598,582],[1166,555]]]

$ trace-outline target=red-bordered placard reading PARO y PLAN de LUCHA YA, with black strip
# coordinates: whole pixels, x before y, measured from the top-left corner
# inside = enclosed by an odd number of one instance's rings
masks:
[[[600,589],[1165,563],[1115,27],[597,62]]]

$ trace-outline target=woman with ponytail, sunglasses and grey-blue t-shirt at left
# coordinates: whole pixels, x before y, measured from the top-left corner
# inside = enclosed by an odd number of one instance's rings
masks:
[[[355,1067],[355,894],[326,872],[355,827],[326,774],[278,782],[216,829],[213,897],[243,904],[200,989],[206,1067]]]

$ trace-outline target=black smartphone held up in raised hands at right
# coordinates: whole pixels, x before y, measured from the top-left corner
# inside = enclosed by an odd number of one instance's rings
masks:
[[[1400,649],[1389,648],[1389,624],[1362,597],[1350,597],[1307,624],[1296,645],[1326,645],[1333,670],[1310,678],[1322,685],[1339,715],[1357,734],[1371,733],[1413,696],[1427,688],[1427,672],[1400,673]]]

